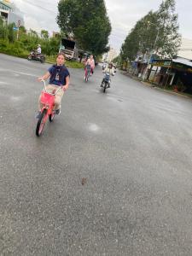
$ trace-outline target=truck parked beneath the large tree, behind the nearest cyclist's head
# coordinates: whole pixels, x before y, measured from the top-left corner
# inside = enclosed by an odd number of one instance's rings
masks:
[[[59,52],[63,52],[67,60],[78,60],[79,58],[79,50],[76,47],[76,42],[72,39],[62,38]]]

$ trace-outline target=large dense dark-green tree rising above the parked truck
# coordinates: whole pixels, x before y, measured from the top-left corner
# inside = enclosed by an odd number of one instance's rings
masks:
[[[80,48],[95,55],[108,51],[111,24],[103,0],[61,0],[58,10],[61,32],[73,35]]]

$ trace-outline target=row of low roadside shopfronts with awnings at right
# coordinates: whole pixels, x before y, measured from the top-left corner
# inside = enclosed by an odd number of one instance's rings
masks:
[[[183,38],[177,56],[172,59],[138,55],[127,71],[160,87],[192,94],[192,40]]]

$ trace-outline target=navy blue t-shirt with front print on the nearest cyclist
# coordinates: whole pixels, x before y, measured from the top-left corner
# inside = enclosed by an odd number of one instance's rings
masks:
[[[49,84],[55,85],[66,85],[66,78],[70,76],[70,73],[67,70],[67,67],[63,66],[52,66],[48,69],[50,73]]]

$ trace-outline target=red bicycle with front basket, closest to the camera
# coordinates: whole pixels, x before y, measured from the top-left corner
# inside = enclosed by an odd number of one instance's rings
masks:
[[[59,90],[61,90],[61,86],[58,86],[59,88],[57,90],[49,92],[46,88],[45,81],[42,80],[42,82],[44,82],[44,90],[41,93],[41,103],[43,108],[41,109],[41,114],[38,118],[38,124],[36,127],[36,135],[38,137],[41,136],[47,119],[49,118],[49,122],[52,122],[55,118],[55,95]]]

